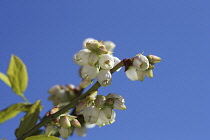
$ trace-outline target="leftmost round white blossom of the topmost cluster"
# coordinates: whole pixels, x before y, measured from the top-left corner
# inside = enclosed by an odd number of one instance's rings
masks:
[[[78,65],[86,65],[88,64],[89,55],[90,51],[88,49],[80,50],[74,55],[74,62]]]

